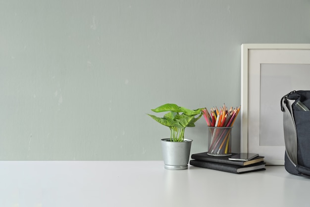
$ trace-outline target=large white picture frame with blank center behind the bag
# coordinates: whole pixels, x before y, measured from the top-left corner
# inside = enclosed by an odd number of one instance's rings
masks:
[[[259,153],[267,165],[284,165],[280,99],[310,90],[305,77],[310,77],[310,44],[241,45],[241,152]],[[273,110],[272,120],[267,110]]]

